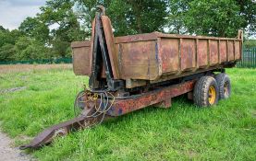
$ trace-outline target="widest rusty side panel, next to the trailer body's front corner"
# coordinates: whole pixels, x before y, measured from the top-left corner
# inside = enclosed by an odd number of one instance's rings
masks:
[[[162,60],[162,72],[177,73],[179,69],[178,39],[161,39],[159,58]]]

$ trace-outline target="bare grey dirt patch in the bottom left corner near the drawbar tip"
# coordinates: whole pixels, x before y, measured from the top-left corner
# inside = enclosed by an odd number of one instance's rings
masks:
[[[0,160],[5,161],[29,161],[35,160],[22,153],[18,147],[12,147],[13,141],[0,131]]]

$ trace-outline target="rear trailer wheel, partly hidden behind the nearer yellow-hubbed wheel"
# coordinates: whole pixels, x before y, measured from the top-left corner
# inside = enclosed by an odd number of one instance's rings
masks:
[[[229,98],[231,95],[231,83],[229,76],[226,74],[219,74],[215,76],[215,79],[219,87],[219,98]]]

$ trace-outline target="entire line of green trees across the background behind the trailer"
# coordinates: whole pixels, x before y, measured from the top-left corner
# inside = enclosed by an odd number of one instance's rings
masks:
[[[72,41],[90,39],[98,5],[106,7],[115,36],[160,31],[236,37],[238,29],[256,34],[252,0],[48,0],[18,29],[0,26],[0,61],[71,57]]]

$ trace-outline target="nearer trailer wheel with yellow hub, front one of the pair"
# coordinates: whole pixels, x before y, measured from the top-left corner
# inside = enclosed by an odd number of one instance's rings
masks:
[[[218,103],[219,88],[212,76],[201,76],[194,86],[193,99],[199,107],[209,107]]]

